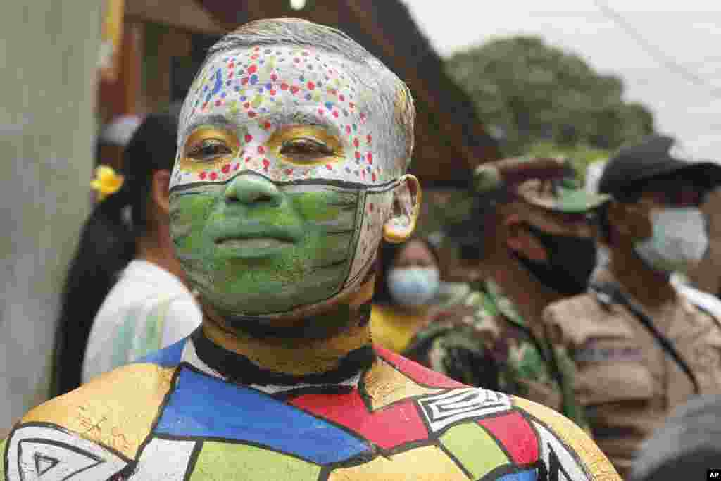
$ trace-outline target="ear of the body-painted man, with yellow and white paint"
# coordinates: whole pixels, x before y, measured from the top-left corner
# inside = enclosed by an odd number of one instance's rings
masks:
[[[420,213],[421,196],[420,182],[415,175],[402,175],[393,189],[391,212],[383,224],[386,242],[404,242],[413,234]]]

